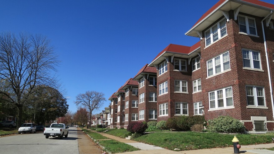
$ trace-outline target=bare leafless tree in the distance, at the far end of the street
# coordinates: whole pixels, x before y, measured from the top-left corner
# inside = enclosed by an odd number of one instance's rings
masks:
[[[89,111],[89,126],[92,120],[92,111],[99,110],[99,108],[106,101],[105,94],[97,91],[86,91],[84,94],[78,94],[74,103],[78,106],[83,106]]]

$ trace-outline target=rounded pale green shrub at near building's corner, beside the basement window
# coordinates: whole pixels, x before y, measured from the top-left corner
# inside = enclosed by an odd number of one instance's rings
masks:
[[[220,116],[213,119],[207,128],[209,132],[215,133],[243,133],[245,130],[243,123],[230,116]]]

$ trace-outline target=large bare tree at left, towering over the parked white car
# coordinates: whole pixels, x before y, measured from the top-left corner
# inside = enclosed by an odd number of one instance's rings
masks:
[[[0,80],[8,83],[0,87],[0,94],[17,106],[17,127],[21,126],[23,95],[29,96],[36,85],[59,87],[52,75],[59,63],[53,51],[50,40],[42,35],[0,34]]]

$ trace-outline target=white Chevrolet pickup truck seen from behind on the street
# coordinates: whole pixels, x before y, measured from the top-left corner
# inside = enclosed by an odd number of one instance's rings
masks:
[[[65,124],[53,123],[50,125],[49,128],[44,128],[44,135],[46,136],[46,138],[49,138],[50,136],[52,137],[59,136],[60,139],[62,139],[63,136],[67,138],[69,135],[68,128],[69,127],[66,126]]]

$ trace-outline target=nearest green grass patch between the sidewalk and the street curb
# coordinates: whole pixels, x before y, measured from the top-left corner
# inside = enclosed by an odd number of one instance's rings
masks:
[[[99,141],[99,145],[105,147],[105,150],[111,153],[120,153],[120,152],[130,152],[130,151],[136,151],[140,150],[136,147],[133,147],[131,145],[118,142],[116,140],[102,140]]]

